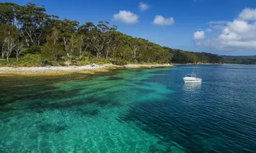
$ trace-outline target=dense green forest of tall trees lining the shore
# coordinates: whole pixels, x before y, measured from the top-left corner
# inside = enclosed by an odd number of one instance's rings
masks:
[[[44,6],[0,3],[0,66],[86,65],[91,63],[256,64],[210,53],[160,46],[117,31],[108,21],[60,20]],[[248,62],[249,61],[249,62]]]

